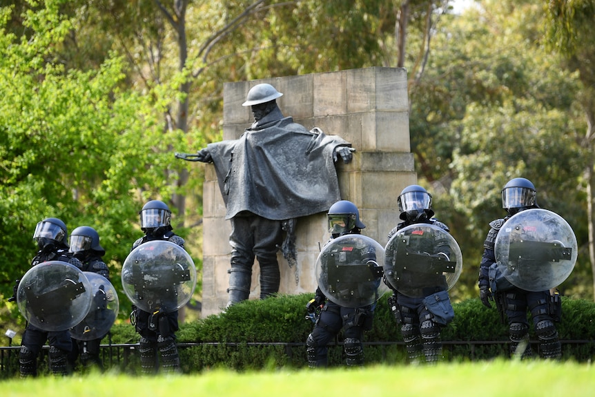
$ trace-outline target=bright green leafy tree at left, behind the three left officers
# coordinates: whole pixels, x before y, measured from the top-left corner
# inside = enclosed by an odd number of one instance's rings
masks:
[[[92,226],[107,251],[112,282],[133,242],[142,236],[138,211],[146,200],[168,202],[164,183],[177,164],[164,149],[182,142],[159,126],[153,95],[121,90],[125,63],[106,59],[97,69],[65,70],[53,49],[72,21],[60,14],[60,1],[23,14],[28,37],[0,35],[0,262],[1,286],[30,267],[32,233],[45,217],[59,217],[69,231]],[[2,9],[3,22],[10,8]],[[175,220],[174,220],[175,226]],[[185,235],[186,231],[177,229]],[[126,302],[124,302],[126,307]]]

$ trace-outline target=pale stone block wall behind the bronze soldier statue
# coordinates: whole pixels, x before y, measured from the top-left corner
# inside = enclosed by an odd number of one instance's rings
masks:
[[[387,234],[398,223],[397,197],[405,186],[417,183],[409,143],[407,72],[402,68],[342,70],[224,85],[223,139],[237,139],[253,122],[251,110],[242,106],[256,84],[272,84],[284,95],[277,104],[286,116],[306,128],[321,128],[351,142],[353,160],[336,167],[341,197],[360,209],[367,226],[362,234],[384,246]],[[204,241],[202,316],[220,313],[227,303],[230,222],[215,169],[206,165],[204,182]],[[289,267],[278,254],[280,293],[314,293],[314,267],[320,246],[329,239],[326,213],[298,219],[298,264]],[[253,267],[251,299],[260,296],[260,269]]]

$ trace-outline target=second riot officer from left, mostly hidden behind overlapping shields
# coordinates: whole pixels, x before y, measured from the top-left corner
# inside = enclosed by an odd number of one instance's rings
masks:
[[[89,271],[102,275],[108,281],[110,273],[107,264],[103,261],[106,251],[99,244],[99,233],[90,226],[79,226],[70,233],[70,249],[68,250],[75,258],[79,259],[83,267],[82,271]],[[72,360],[80,355],[81,365],[84,368],[96,366],[101,371],[104,365],[99,358],[99,346],[101,338],[93,340],[73,340]]]

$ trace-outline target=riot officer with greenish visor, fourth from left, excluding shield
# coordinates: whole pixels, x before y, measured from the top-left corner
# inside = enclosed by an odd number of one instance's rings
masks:
[[[360,234],[361,229],[366,227],[360,221],[360,211],[352,202],[341,200],[331,206],[326,215],[331,238],[326,242],[328,246],[333,240],[343,235]],[[324,251],[324,250],[323,250]],[[364,245],[360,249],[353,249],[349,246],[343,251],[347,255],[361,263],[375,263],[376,255],[371,246]],[[352,258],[352,259],[353,259]],[[325,264],[322,263],[322,266]],[[320,281],[319,281],[320,282]],[[358,280],[364,283],[364,280]],[[374,289],[380,284],[375,282]],[[364,349],[362,345],[363,333],[371,329],[375,304],[364,307],[344,307],[329,300],[320,285],[316,289],[315,297],[307,305],[308,311],[320,311],[315,321],[314,329],[306,340],[306,354],[308,365],[314,367],[326,367],[328,365],[328,347],[335,336],[343,329],[344,352],[347,356],[348,366],[360,366],[364,363]]]

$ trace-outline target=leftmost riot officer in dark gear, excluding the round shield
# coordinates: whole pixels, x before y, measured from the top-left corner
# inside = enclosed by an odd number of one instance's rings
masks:
[[[37,242],[37,255],[31,266],[59,260],[81,269],[83,264],[68,252],[68,230],[66,224],[56,217],[48,217],[37,223],[33,239]],[[16,295],[15,295],[16,297]],[[19,365],[21,377],[37,376],[37,356],[48,340],[50,345],[50,369],[55,375],[68,374],[68,356],[72,351],[70,333],[66,331],[44,331],[28,324],[21,342]]]

